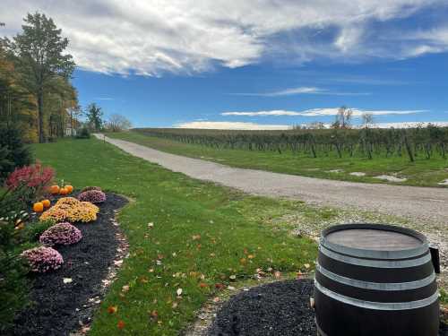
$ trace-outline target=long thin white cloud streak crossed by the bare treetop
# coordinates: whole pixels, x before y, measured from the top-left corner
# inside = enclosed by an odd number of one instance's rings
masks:
[[[336,116],[339,108],[312,108],[305,111],[287,111],[287,110],[271,110],[271,111],[242,111],[242,112],[223,112],[221,116]],[[352,116],[362,116],[370,113],[373,116],[389,116],[389,115],[413,115],[416,113],[428,112],[426,109],[411,110],[369,110],[351,108]]]

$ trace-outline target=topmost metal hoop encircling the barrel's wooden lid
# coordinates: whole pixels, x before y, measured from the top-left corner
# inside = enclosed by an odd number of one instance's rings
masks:
[[[365,250],[355,247],[349,246],[340,246],[338,244],[334,244],[330,242],[325,237],[335,231],[340,229],[350,229],[350,228],[372,228],[372,229],[384,229],[387,228],[393,232],[402,233],[405,235],[409,235],[411,237],[418,238],[422,242],[421,246],[416,248],[409,248],[398,251],[378,251],[378,250]],[[411,230],[409,228],[400,228],[392,225],[385,224],[342,224],[337,225],[332,228],[327,228],[323,231],[323,236],[321,237],[321,245],[326,246],[332,249],[335,252],[339,252],[341,254],[349,254],[353,256],[358,256],[360,258],[373,258],[373,259],[404,259],[404,258],[413,258],[418,255],[424,254],[429,248],[429,244],[426,240],[426,237],[418,233],[417,231]]]

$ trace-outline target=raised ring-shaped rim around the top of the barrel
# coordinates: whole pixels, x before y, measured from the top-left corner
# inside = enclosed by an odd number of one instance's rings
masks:
[[[334,232],[349,230],[349,229],[371,229],[371,230],[373,229],[373,230],[391,231],[394,233],[399,233],[402,235],[413,237],[413,238],[417,239],[418,241],[420,241],[421,244],[418,246],[411,246],[411,247],[407,247],[407,248],[404,247],[404,248],[395,249],[392,251],[381,251],[381,250],[377,250],[377,249],[370,249],[368,247],[359,248],[359,247],[355,247],[355,246],[346,246],[346,245],[330,242],[329,239],[327,239],[327,237],[330,236]],[[359,253],[358,256],[366,256],[366,257],[368,257],[369,255],[371,255],[372,257],[380,256],[380,254],[384,254],[384,253],[391,254],[391,256],[392,256],[392,254],[395,254],[395,255],[401,254],[402,257],[406,256],[407,253],[409,253],[409,255],[410,254],[418,255],[418,254],[424,253],[425,250],[429,246],[426,237],[413,229],[401,228],[401,227],[390,225],[390,224],[380,224],[380,223],[350,223],[350,224],[340,224],[340,225],[332,226],[330,228],[325,228],[322,232],[321,244],[323,244],[323,246],[330,247],[332,249],[337,249],[341,253],[344,253],[344,251],[349,254]],[[364,255],[365,253],[370,253],[370,254]]]

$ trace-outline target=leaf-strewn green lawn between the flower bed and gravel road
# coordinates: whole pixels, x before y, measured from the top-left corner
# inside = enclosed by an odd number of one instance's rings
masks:
[[[95,139],[34,149],[58,178],[78,188],[100,185],[134,200],[118,217],[130,256],[90,335],[177,335],[218,294],[217,284],[235,286],[257,268],[292,274],[306,271],[305,263],[313,265],[314,242],[291,236],[291,228],[275,219],[303,211],[319,220],[325,211],[196,181]]]

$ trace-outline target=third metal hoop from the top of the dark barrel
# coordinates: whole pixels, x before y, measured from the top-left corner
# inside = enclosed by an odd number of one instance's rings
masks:
[[[409,281],[409,282],[395,282],[395,283],[383,283],[383,282],[370,282],[363,280],[356,280],[344,277],[342,275],[328,271],[319,263],[316,263],[315,269],[321,272],[325,277],[342,283],[344,285],[357,287],[358,289],[373,289],[373,290],[409,290],[420,289],[431,284],[435,280],[435,272],[422,280]]]

